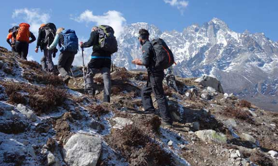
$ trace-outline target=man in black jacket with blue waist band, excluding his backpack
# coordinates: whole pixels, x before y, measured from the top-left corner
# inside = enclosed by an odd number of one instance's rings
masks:
[[[94,88],[94,75],[101,73],[104,82],[103,102],[110,102],[111,94],[111,78],[110,78],[110,67],[111,67],[111,53],[106,52],[99,47],[99,35],[98,27],[94,26],[90,34],[90,39],[82,43],[80,47],[86,48],[93,46],[93,52],[91,54],[91,60],[88,63],[88,70],[86,73],[86,88],[89,95],[95,95]]]

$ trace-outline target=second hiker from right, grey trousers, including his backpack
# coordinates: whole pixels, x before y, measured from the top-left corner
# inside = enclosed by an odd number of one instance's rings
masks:
[[[109,33],[109,37],[105,36],[104,31]],[[109,43],[99,44],[99,38],[105,37],[109,40]],[[106,40],[103,40],[106,42]],[[108,45],[107,48],[104,45]],[[95,95],[94,88],[94,75],[96,73],[101,73],[104,82],[103,91],[103,102],[110,103],[111,94],[111,78],[110,78],[110,67],[111,67],[111,55],[118,51],[117,40],[114,36],[114,30],[109,26],[94,26],[91,30],[90,38],[87,42],[80,43],[81,48],[93,46],[93,52],[91,54],[91,60],[88,63],[88,69],[86,72],[86,88],[89,95]]]

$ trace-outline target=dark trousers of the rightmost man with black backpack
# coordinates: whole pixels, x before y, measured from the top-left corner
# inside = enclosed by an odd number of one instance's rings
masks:
[[[148,71],[147,86],[143,88],[141,92],[142,103],[145,111],[154,113],[155,109],[153,107],[153,102],[151,99],[151,93],[153,93],[158,104],[158,109],[162,120],[166,123],[172,124],[173,120],[168,107],[168,101],[164,95],[164,90],[162,86],[163,78],[163,71]]]

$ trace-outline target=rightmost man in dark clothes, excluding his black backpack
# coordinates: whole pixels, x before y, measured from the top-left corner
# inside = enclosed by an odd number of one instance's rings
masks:
[[[168,101],[164,95],[162,86],[164,71],[163,68],[160,69],[155,67],[155,54],[153,51],[152,43],[149,41],[149,32],[145,29],[140,29],[138,40],[142,45],[142,60],[134,59],[132,60],[132,63],[145,66],[148,72],[147,85],[145,88],[142,89],[141,93],[142,103],[145,110],[144,113],[155,113],[155,109],[153,107],[151,99],[151,93],[153,92],[158,104],[160,115],[162,117],[161,125],[164,127],[172,128],[173,120],[168,107]]]

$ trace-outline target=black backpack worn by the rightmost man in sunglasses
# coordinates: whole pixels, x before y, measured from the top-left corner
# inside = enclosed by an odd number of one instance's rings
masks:
[[[175,63],[174,54],[163,39],[153,39],[151,44],[153,46],[155,68],[166,69]]]

